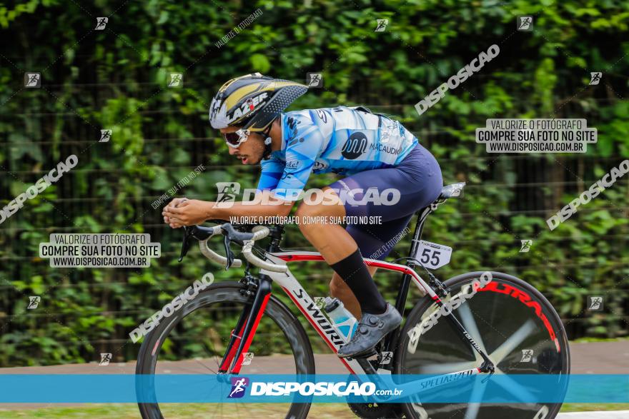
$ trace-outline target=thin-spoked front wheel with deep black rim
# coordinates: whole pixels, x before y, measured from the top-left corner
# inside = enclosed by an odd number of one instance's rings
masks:
[[[209,286],[144,338],[136,374],[137,393],[159,394],[154,374],[217,375],[219,364],[239,316],[253,296],[242,284]],[[247,374],[314,374],[314,356],[299,320],[273,296],[269,298],[249,347],[253,358],[243,365]],[[229,375],[228,375],[229,377]],[[227,380],[229,382],[229,379]],[[199,381],[193,391],[213,391]],[[148,392],[148,393],[147,393]],[[227,394],[225,395],[227,401]],[[158,399],[159,400],[159,399]],[[158,418],[306,418],[309,403],[138,403],[144,419]]]

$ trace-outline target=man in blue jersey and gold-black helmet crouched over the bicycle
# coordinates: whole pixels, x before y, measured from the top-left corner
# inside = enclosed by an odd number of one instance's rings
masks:
[[[355,357],[369,353],[402,322],[377,290],[372,279],[376,268],[367,268],[363,256],[387,256],[392,246],[385,243],[406,228],[413,213],[439,196],[441,170],[401,123],[367,108],[283,112],[306,91],[302,84],[259,73],[227,81],[212,99],[209,121],[220,129],[229,154],[243,164],[262,164],[257,186],[262,203],[220,208],[214,202],[175,198],[164,208],[164,222],[178,228],[211,218],[287,216],[311,173],[346,176],[324,188],[321,203],[302,202],[296,216],[302,220],[299,229],[335,271],[330,294],[360,319],[352,340],[338,353]],[[377,205],[377,200],[366,199],[369,188],[382,195],[389,189],[387,197],[392,199],[387,202],[396,197],[398,201]],[[264,199],[274,205],[264,205]],[[350,224],[346,229],[335,223],[308,223],[314,217],[344,216],[380,216],[382,223]]]

